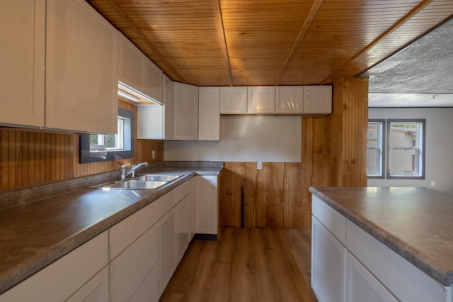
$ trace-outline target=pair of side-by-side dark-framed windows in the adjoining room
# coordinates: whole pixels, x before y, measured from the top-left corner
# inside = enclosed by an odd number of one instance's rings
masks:
[[[367,175],[425,179],[425,120],[369,120]]]

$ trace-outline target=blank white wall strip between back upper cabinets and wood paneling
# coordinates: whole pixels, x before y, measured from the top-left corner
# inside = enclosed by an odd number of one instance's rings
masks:
[[[164,160],[300,162],[300,116],[222,116],[220,141],[166,141]]]

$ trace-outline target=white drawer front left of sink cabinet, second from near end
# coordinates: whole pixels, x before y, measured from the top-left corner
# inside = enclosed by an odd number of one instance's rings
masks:
[[[110,228],[110,259],[117,257],[159,220],[159,202],[160,198]]]

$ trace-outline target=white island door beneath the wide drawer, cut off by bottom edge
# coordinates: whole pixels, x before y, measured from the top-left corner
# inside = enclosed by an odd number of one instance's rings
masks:
[[[368,270],[347,252],[346,301],[398,301]]]

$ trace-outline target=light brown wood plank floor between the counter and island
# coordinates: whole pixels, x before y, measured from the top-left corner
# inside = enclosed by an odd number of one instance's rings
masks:
[[[224,228],[193,240],[160,301],[316,301],[310,230]]]

